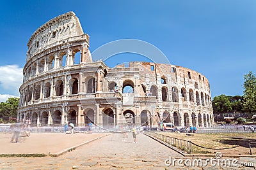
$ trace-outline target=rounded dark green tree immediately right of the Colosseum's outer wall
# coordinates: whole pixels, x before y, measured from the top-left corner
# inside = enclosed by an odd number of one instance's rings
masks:
[[[215,96],[212,100],[213,113],[228,113],[232,111],[231,103],[228,96],[221,94]]]

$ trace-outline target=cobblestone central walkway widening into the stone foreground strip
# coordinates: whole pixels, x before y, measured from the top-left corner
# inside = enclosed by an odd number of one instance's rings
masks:
[[[138,143],[132,135],[124,141],[122,134],[112,134],[65,153],[60,157],[0,158],[1,169],[254,169],[253,167],[179,167],[166,166],[164,160],[186,159],[143,134]],[[239,161],[254,162],[254,158]]]

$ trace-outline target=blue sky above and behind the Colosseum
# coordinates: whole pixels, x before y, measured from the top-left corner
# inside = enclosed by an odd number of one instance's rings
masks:
[[[242,95],[243,76],[255,73],[256,1],[1,1],[0,101],[19,96],[28,39],[48,20],[74,11],[90,50],[117,39],[141,39],[172,64],[204,74],[212,98]],[[115,55],[115,66],[140,55]],[[9,83],[10,82],[10,83]]]

